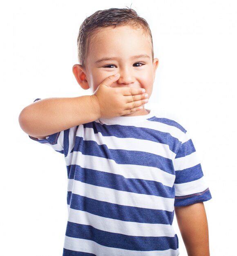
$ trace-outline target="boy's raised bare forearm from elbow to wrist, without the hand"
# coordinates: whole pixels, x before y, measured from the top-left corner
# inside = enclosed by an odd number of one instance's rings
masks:
[[[19,123],[28,135],[46,137],[99,118],[99,106],[91,96],[50,98],[36,101],[22,110]]]

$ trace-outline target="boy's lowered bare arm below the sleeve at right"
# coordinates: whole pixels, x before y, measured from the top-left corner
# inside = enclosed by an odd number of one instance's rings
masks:
[[[208,223],[203,203],[175,207],[188,256],[209,256]]]

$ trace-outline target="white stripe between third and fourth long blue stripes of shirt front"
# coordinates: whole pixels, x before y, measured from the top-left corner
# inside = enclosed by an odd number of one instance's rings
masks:
[[[68,191],[72,193],[112,204],[131,207],[173,211],[174,199],[155,195],[136,194],[86,184],[77,180],[68,180]]]

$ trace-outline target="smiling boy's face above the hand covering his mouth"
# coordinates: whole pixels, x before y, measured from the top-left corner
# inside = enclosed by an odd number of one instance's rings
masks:
[[[152,60],[152,45],[143,29],[130,26],[100,29],[90,39],[85,79],[94,93],[108,76],[119,73],[111,87],[144,88],[152,93],[158,59]]]

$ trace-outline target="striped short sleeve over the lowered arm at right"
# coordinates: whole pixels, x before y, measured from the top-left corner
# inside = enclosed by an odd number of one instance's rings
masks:
[[[174,159],[175,200],[174,206],[185,206],[210,200],[201,164],[192,140],[185,134]]]

